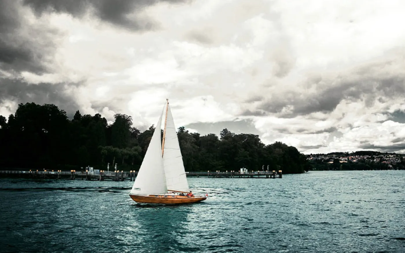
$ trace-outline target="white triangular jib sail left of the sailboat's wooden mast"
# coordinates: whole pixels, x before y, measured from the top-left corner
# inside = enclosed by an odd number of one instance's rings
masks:
[[[131,189],[133,195],[153,195],[167,193],[166,178],[164,175],[162,159],[161,125],[160,115],[156,129],[149,143],[145,157],[143,158],[138,176]]]

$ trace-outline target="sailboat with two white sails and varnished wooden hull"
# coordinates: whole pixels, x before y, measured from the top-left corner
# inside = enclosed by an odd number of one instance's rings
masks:
[[[166,113],[161,141],[160,126],[164,109]],[[208,197],[207,194],[194,195],[188,187],[168,99],[130,191],[130,197],[137,203],[153,204],[189,204],[201,202]]]

